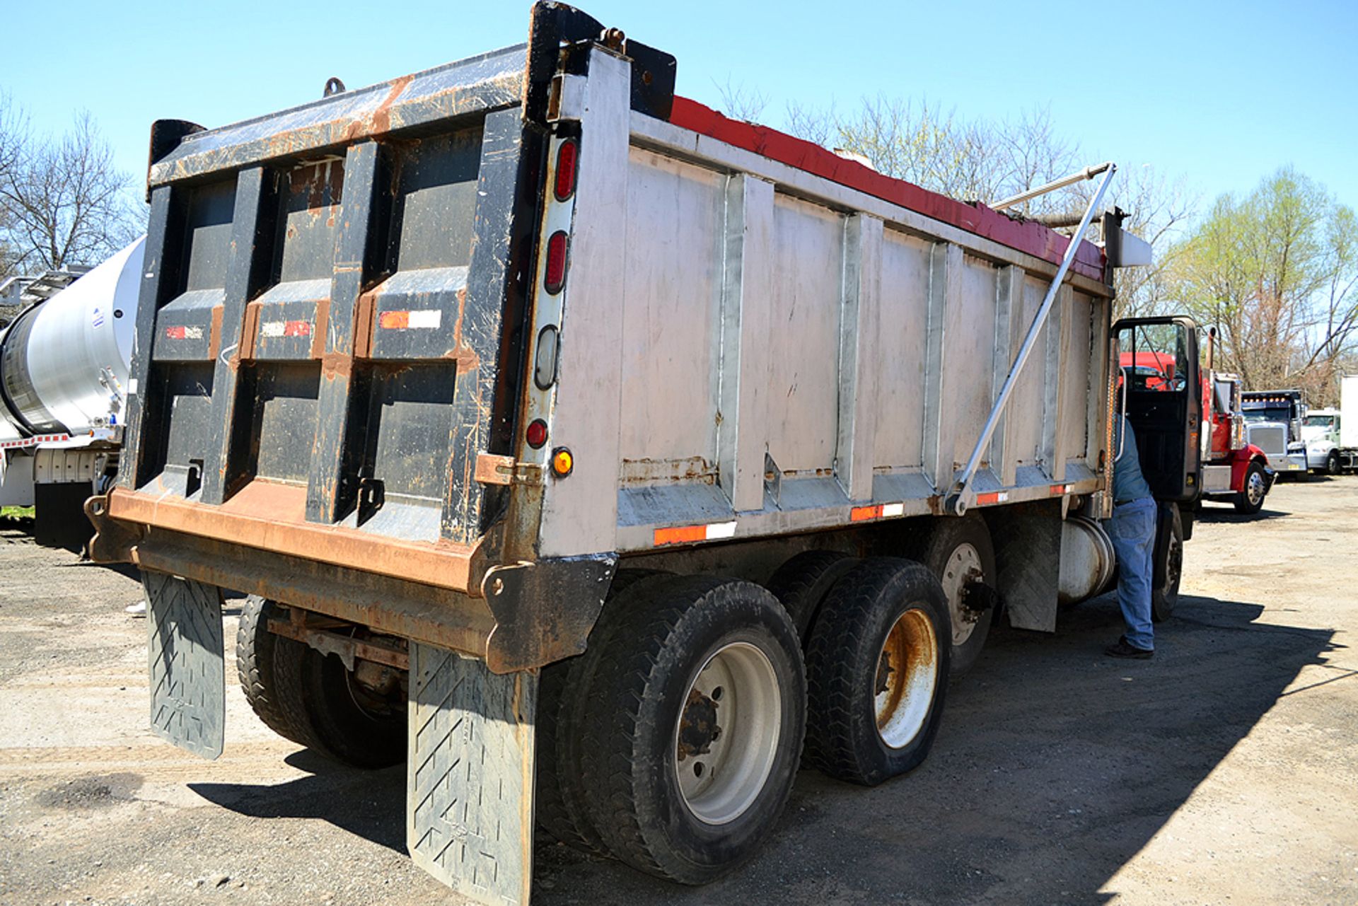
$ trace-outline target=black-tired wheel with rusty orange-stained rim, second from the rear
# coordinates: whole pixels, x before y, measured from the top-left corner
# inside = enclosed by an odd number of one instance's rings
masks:
[[[807,648],[807,761],[864,786],[918,766],[942,717],[951,637],[923,565],[877,557],[841,579]]]

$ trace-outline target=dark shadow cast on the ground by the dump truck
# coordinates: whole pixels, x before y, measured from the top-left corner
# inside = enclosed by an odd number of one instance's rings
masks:
[[[702,888],[539,841],[534,903],[1104,903],[1119,868],[1297,672],[1334,651],[1331,632],[1259,623],[1262,611],[1184,598],[1152,662],[1101,655],[1122,632],[1107,595],[1063,614],[1055,637],[998,632],[952,683],[942,731],[913,774],[862,789],[803,772],[770,845]],[[191,789],[403,852],[403,767],[346,770],[307,753],[289,762],[315,773]]]

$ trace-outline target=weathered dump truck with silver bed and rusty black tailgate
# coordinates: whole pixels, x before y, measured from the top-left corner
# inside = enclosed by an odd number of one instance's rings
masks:
[[[1111,321],[1141,257],[1114,166],[1071,238],[676,96],[672,56],[570,7],[528,34],[155,124],[86,507],[92,558],[141,570],[156,733],[221,753],[247,594],[255,713],[405,761],[411,857],[492,903],[528,901],[535,826],[698,884],[803,761],[919,765],[997,619],[1051,632],[1108,583],[1116,413],[1158,617],[1200,484],[1200,394],[1118,390],[1119,337],[1192,387],[1198,356],[1187,319]]]

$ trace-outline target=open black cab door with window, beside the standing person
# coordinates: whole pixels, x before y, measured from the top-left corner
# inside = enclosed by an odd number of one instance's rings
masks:
[[[1119,401],[1137,435],[1141,471],[1157,500],[1191,503],[1202,474],[1198,325],[1183,315],[1128,318],[1114,325],[1114,336]]]

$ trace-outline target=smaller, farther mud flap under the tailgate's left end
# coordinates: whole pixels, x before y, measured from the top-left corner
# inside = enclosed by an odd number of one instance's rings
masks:
[[[221,754],[227,672],[221,590],[144,572],[151,667],[151,729],[204,758]]]

